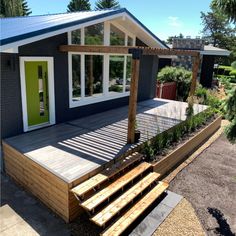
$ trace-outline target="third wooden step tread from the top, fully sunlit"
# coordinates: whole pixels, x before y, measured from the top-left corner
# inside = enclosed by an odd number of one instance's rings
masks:
[[[104,226],[112,217],[119,213],[125,206],[132,202],[140,195],[147,187],[158,180],[160,174],[152,172],[135,184],[132,188],[126,191],[118,199],[100,211],[97,215],[91,218],[98,226]]]

